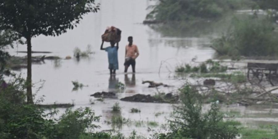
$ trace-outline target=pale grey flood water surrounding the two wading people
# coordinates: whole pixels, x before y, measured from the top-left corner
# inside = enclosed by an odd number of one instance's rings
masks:
[[[142,22],[148,13],[146,9],[153,4],[148,0],[105,0],[100,1],[100,3],[101,10],[98,13],[84,16],[77,28],[58,37],[38,36],[32,39],[32,50],[53,52],[46,54],[49,56],[64,58],[69,55],[73,57],[75,47],[86,50],[87,45],[90,45],[92,51],[95,52],[90,57],[81,58],[79,61],[75,58],[59,61],[45,60],[44,64],[32,65],[32,81],[38,82],[33,87],[33,92],[41,86],[42,82],[40,81],[44,80],[43,88],[37,92],[36,99],[44,95],[43,104],[74,103],[74,108],[91,107],[95,110],[96,115],[102,116],[101,122],[98,123],[101,126],[100,131],[113,128],[105,121],[111,120],[113,115],[111,107],[116,102],[120,103],[122,116],[131,121],[155,121],[159,125],[165,124],[165,117],[168,117],[172,110],[171,104],[133,103],[123,102],[119,99],[135,94],[154,95],[157,93],[156,89],[148,88],[147,84],[142,84],[141,82],[144,80],[173,85],[174,87],[160,87],[158,89],[166,93],[180,87],[183,81],[175,78],[173,73],[175,66],[188,63],[194,57],[197,57],[198,61],[212,58],[214,51],[205,47],[210,43],[210,40],[205,37],[167,37],[152,30],[149,26],[143,25]],[[100,50],[100,36],[106,27],[111,25],[122,30],[122,40],[118,51],[119,70],[116,71],[115,77],[109,75],[107,53]],[[131,74],[131,69],[129,69],[129,74],[125,75],[124,48],[128,44],[128,36],[133,36],[134,44],[137,44],[140,55],[136,59],[137,73]],[[104,47],[106,46],[109,46],[109,43],[105,43]],[[24,53],[15,53],[17,50],[26,51],[27,47],[19,45],[18,48],[9,51],[12,55],[25,55]],[[44,54],[33,54],[33,56],[37,55]],[[23,77],[26,77],[26,69],[20,72]],[[78,91],[72,91],[74,86],[71,81],[78,81],[87,86]],[[90,97],[91,94],[98,91],[113,91],[113,86],[117,82],[126,85],[126,89],[118,93],[117,98],[104,99],[101,102]],[[95,104],[91,104],[91,102]],[[138,108],[141,113],[130,113],[131,108]],[[244,110],[252,111],[245,107]],[[63,111],[64,109],[60,109],[60,113]],[[158,112],[163,114],[155,116]],[[131,133],[133,129],[136,129],[139,134],[149,134],[148,125],[131,124],[116,128],[124,134]]]

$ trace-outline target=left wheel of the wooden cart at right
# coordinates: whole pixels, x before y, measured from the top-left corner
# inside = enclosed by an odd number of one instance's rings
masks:
[[[251,84],[259,84],[263,80],[263,70],[248,69],[247,77]]]

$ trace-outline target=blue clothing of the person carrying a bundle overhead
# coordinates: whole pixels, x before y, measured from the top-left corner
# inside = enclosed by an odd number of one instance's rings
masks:
[[[106,47],[105,51],[108,53],[108,62],[109,62],[109,69],[118,70],[118,49],[116,46],[114,47]]]

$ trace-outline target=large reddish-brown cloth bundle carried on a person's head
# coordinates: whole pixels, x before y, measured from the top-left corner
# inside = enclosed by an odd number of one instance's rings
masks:
[[[120,42],[122,31],[119,28],[114,26],[107,27],[104,34],[101,36],[103,41],[110,42],[114,41],[115,43]]]

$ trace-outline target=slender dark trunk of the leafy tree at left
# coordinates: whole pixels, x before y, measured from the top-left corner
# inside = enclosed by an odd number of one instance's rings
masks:
[[[32,46],[31,36],[27,38],[27,103],[33,103],[32,96]]]

